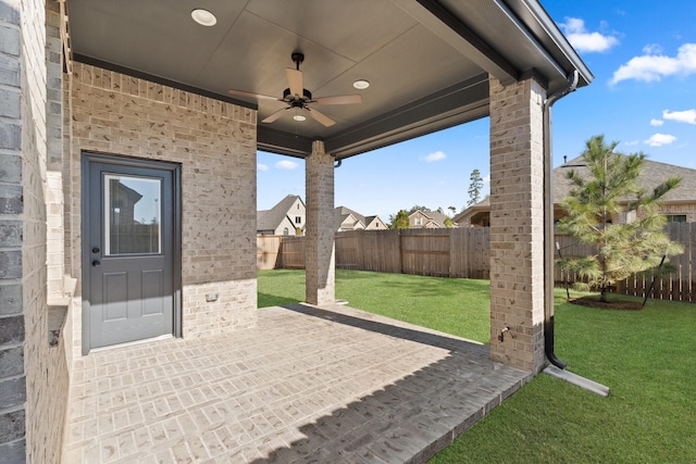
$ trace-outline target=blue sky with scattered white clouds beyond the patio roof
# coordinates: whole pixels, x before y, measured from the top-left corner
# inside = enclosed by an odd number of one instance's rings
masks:
[[[552,110],[554,165],[598,134],[624,153],[696,168],[696,1],[542,1],[595,76]],[[469,200],[469,177],[487,180],[488,118],[345,160],[335,204],[363,215]],[[258,153],[258,209],[304,198],[304,162]],[[485,185],[485,193],[488,185]]]

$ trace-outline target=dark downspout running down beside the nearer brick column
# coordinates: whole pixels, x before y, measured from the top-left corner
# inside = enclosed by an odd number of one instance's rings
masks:
[[[544,351],[548,361],[560,369],[568,363],[554,352],[554,176],[551,150],[551,106],[577,88],[580,73],[574,70],[568,77],[568,86],[551,93],[544,102]]]

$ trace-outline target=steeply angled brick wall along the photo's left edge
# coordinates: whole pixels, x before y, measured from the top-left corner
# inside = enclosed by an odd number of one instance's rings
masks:
[[[54,30],[46,23],[55,12],[52,1],[0,3],[0,456],[9,463],[59,462],[66,407],[64,346],[49,346],[47,304],[46,49]]]

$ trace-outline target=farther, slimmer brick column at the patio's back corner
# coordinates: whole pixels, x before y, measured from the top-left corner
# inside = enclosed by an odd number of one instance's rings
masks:
[[[307,238],[304,242],[306,300],[310,304],[336,301],[334,258],[334,156],[324,142],[312,143],[306,160]]]

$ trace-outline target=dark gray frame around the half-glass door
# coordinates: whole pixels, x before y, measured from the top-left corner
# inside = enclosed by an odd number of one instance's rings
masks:
[[[146,167],[172,173],[172,204],[173,214],[173,250],[172,250],[172,289],[174,301],[173,336],[182,337],[182,165],[166,161],[144,160],[117,154],[105,154],[83,150],[80,152],[80,263],[82,263],[82,353],[89,354],[90,347],[90,303],[88,300],[90,286],[90,243],[89,243],[89,206],[91,201],[100,201],[102,198],[90,199],[89,196],[89,170],[92,163],[113,164],[119,166]],[[103,206],[102,206],[103,208]]]

